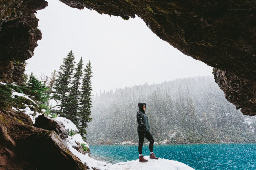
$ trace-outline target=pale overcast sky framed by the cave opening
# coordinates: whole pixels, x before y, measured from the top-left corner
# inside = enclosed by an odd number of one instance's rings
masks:
[[[56,0],[48,0],[48,7],[36,16],[42,40],[27,60],[26,72],[38,78],[42,72],[50,76],[58,71],[70,50],[76,64],[81,57],[84,66],[91,60],[94,95],[146,82],[212,75],[210,66],[161,40],[137,16],[126,21],[74,9]]]

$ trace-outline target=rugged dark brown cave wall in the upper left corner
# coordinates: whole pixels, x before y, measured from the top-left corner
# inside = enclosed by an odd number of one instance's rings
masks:
[[[3,0],[0,4],[0,81],[23,82],[24,68],[14,61],[31,58],[42,38],[36,10],[47,6],[44,0]]]

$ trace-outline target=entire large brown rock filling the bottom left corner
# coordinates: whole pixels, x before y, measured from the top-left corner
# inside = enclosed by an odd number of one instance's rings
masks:
[[[55,131],[32,126],[23,112],[5,113],[0,111],[1,169],[89,169]]]

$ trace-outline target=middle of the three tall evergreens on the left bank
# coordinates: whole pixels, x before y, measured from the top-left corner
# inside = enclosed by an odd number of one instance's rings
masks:
[[[80,59],[77,67],[75,68],[75,74],[72,79],[72,86],[69,89],[69,95],[66,99],[66,107],[63,109],[66,118],[71,120],[76,126],[78,126],[78,99],[80,95],[79,86],[82,78],[82,58]]]

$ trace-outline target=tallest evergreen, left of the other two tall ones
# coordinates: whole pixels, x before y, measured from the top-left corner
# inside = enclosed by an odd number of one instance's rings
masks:
[[[65,117],[63,114],[63,108],[66,107],[66,98],[67,92],[69,90],[69,85],[71,82],[71,76],[74,70],[74,54],[72,50],[69,52],[67,57],[64,59],[63,64],[60,66],[60,71],[58,72],[57,79],[55,81],[54,91],[52,98],[57,100],[59,103],[57,104],[58,109],[53,110],[53,112],[60,114],[60,116]]]

